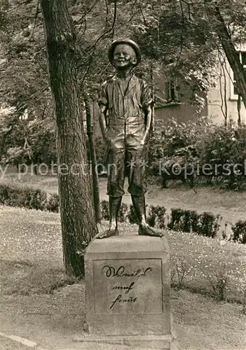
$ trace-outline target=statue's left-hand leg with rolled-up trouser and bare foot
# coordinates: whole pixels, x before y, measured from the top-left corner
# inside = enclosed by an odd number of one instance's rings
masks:
[[[124,149],[111,149],[108,154],[109,228],[96,236],[102,239],[119,235],[117,218],[124,195]]]

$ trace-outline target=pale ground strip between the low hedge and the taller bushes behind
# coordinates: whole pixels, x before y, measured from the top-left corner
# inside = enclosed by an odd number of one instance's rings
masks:
[[[167,212],[171,208],[182,208],[196,210],[198,213],[211,211],[223,217],[220,233],[224,230],[224,224],[236,223],[238,220],[246,220],[246,191],[235,192],[220,190],[212,187],[198,187],[194,190],[180,183],[170,183],[169,188],[161,188],[157,182],[149,184],[146,202],[149,205],[164,206]],[[0,183],[15,186],[27,186],[44,190],[47,193],[58,193],[58,181],[56,176],[32,175],[31,170],[27,174],[17,174],[17,170],[8,167],[4,175],[0,174]],[[101,200],[108,200],[106,195],[107,180],[99,180]],[[127,181],[125,181],[125,195],[123,202],[131,204],[131,196],[127,192]],[[230,234],[229,226],[227,232]]]

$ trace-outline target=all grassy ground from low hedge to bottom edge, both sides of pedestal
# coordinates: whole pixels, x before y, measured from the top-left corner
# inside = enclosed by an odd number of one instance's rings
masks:
[[[2,331],[16,330],[15,334],[44,344],[48,334],[49,339],[56,339],[54,349],[59,349],[65,338],[78,335],[85,321],[83,282],[63,272],[59,215],[0,207],[0,218]],[[120,230],[131,232],[136,226],[124,223]],[[215,290],[221,279],[226,280],[226,298],[243,302],[245,247],[180,232],[168,232],[167,237],[173,282],[185,287],[172,291],[182,349],[244,349],[243,305],[217,302],[208,293],[213,293],[210,279]]]

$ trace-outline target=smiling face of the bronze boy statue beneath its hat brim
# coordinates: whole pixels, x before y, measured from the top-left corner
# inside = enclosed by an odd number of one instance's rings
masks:
[[[114,65],[116,68],[125,68],[137,63],[136,53],[130,45],[119,44],[114,51]]]

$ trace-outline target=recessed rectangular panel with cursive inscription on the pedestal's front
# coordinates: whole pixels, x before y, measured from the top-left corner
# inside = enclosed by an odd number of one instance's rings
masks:
[[[160,314],[161,259],[94,260],[95,314]]]

